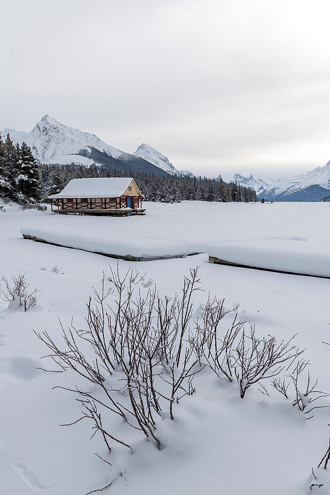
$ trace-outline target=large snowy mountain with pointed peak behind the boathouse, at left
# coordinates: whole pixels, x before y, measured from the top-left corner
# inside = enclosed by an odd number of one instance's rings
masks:
[[[86,166],[100,163],[121,170],[134,169],[156,175],[164,173],[164,169],[150,161],[107,145],[95,134],[67,127],[49,115],[45,115],[31,132],[6,128],[0,134],[3,140],[9,134],[14,144],[25,141],[41,163],[79,163]]]

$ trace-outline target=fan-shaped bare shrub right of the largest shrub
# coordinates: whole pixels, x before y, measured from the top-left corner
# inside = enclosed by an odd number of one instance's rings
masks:
[[[234,365],[241,398],[253,384],[279,375],[303,352],[291,345],[294,337],[277,344],[275,337],[258,339],[254,326],[251,326],[250,335],[246,335],[243,329],[235,348]]]

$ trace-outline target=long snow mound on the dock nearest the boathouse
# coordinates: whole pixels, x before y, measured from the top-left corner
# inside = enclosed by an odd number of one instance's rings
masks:
[[[186,254],[186,246],[176,241],[153,239],[136,235],[119,235],[103,232],[90,227],[88,232],[80,228],[68,227],[24,227],[20,229],[25,236],[36,237],[48,243],[63,247],[73,247],[116,256],[134,256],[145,258],[174,257]]]

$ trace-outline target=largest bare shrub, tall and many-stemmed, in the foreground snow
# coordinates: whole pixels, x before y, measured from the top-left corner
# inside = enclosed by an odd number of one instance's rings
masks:
[[[202,367],[195,366],[188,333],[192,295],[199,283],[197,270],[185,278],[181,297],[162,299],[153,281],[133,269],[121,277],[117,266],[110,276],[103,273],[101,290],[94,289],[87,303],[85,329],[77,330],[72,323],[64,330],[61,325],[63,346],[55,344],[47,332],[37,334],[51,351],[47,357],[62,371],[72,369],[96,384],[88,392],[72,389],[83,407],[77,421],[92,420],[94,433],[101,434],[109,451],[111,440],[131,447],[103,426],[105,412],[118,414],[161,448],[156,432],[161,411],[168,404],[174,419],[174,403],[194,393],[192,379]],[[107,304],[110,294],[115,295],[112,306]],[[81,350],[83,342],[89,358]]]

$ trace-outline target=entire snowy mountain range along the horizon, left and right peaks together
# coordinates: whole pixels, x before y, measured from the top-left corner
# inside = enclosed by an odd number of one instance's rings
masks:
[[[188,170],[177,170],[168,158],[146,143],[142,143],[133,154],[122,151],[101,141],[95,134],[67,127],[49,115],[45,115],[31,132],[4,129],[0,131],[5,140],[9,134],[16,144],[23,141],[32,149],[41,163],[76,163],[90,166],[93,163],[108,168],[135,172],[150,172],[157,176],[188,175]],[[212,177],[222,180],[221,175]],[[250,173],[235,174],[233,182],[255,189],[258,198],[274,201],[319,201],[330,195],[330,161],[307,174],[263,181],[254,179]]]

